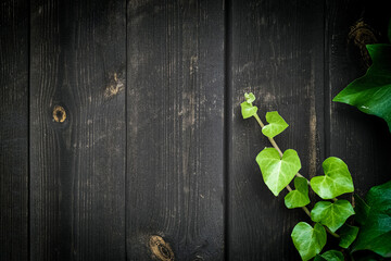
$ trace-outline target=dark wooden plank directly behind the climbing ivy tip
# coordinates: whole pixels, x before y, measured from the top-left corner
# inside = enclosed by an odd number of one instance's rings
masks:
[[[290,127],[276,137],[282,150],[295,149],[308,177],[324,158],[324,4],[323,1],[231,1],[231,90],[229,112],[229,260],[299,260],[290,234],[300,209],[288,210],[286,191],[267,189],[255,162],[270,147],[256,121],[243,120],[245,91],[257,97],[264,119],[279,111]]]

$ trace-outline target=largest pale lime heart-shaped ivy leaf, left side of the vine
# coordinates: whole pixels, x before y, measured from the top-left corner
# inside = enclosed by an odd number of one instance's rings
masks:
[[[292,149],[286,150],[281,159],[275,148],[266,148],[257,154],[256,162],[266,186],[276,197],[301,169],[298,152]]]

